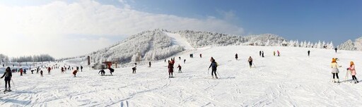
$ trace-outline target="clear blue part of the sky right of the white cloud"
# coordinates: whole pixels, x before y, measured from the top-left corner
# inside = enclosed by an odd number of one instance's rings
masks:
[[[362,1],[349,0],[137,0],[140,11],[182,17],[223,18],[243,27],[246,34],[273,33],[286,39],[333,41],[339,45],[362,36]]]

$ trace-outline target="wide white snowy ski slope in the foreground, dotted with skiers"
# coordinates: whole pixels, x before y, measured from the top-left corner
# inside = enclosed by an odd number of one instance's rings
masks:
[[[273,56],[279,50],[281,56]],[[264,58],[259,57],[264,51]],[[279,46],[216,46],[198,49],[176,57],[174,78],[168,78],[167,63],[159,61],[117,68],[114,76],[100,76],[99,70],[86,65],[78,77],[53,70],[44,77],[13,73],[13,92],[0,94],[0,106],[361,106],[362,84],[344,82],[349,61],[356,63],[356,77],[361,79],[359,51],[338,51]],[[238,53],[240,60],[235,60]],[[209,59],[218,66],[218,80],[208,72]],[[256,68],[249,68],[252,56]],[[340,81],[331,81],[333,57],[339,58]],[[79,60],[81,61],[81,60]],[[64,61],[59,65],[85,62]],[[76,64],[74,64],[76,63]],[[177,73],[177,65],[182,73]],[[49,63],[50,65],[55,63]],[[42,69],[45,70],[45,69]],[[109,75],[106,70],[106,75]],[[351,76],[349,76],[351,80]],[[11,83],[11,85],[13,85]],[[1,80],[1,91],[4,80]]]

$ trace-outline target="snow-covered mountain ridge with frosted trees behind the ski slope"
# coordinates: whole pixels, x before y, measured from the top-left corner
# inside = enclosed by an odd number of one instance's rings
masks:
[[[202,32],[193,30],[148,30],[134,34],[122,42],[109,46],[105,49],[94,51],[86,56],[91,56],[93,63],[103,61],[118,61],[119,63],[130,63],[134,61],[158,61],[185,49],[197,49],[206,46],[229,46],[229,45],[252,45],[252,46],[302,46],[322,48],[333,44],[319,42],[288,41],[276,34],[258,35],[232,35],[218,32]],[[85,56],[83,56],[85,57]],[[86,60],[86,58],[83,58]]]

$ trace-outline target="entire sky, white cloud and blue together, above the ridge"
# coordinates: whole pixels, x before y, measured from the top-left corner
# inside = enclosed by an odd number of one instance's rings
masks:
[[[157,28],[272,33],[299,41],[332,41],[337,46],[362,36],[361,19],[362,1],[358,0],[0,1],[0,35],[16,36],[2,37],[5,42],[0,42],[0,50],[8,50],[9,56],[80,56]],[[9,49],[6,44],[13,42],[33,45]]]

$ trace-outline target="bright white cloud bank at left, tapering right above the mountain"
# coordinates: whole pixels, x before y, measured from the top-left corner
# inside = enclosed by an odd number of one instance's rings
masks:
[[[54,1],[41,6],[0,4],[0,50],[6,50],[1,52],[8,56],[49,53],[59,58],[109,46],[115,42],[111,37],[125,38],[156,28],[244,33],[243,28],[227,20],[146,13],[133,10],[126,1],[120,3],[124,4],[122,8],[88,0]]]

